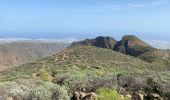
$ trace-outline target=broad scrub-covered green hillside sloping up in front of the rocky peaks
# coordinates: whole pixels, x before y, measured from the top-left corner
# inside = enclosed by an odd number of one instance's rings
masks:
[[[8,69],[0,73],[0,81],[14,81],[24,85],[24,79],[49,81],[67,87],[72,97],[75,91],[85,89],[85,92],[96,92],[101,87],[117,91],[123,88],[120,94],[133,94],[139,90],[146,92],[143,89],[147,87],[147,78],[153,77],[158,84],[164,84],[160,89],[164,88],[163,91],[167,93],[170,83],[170,70],[167,67],[109,49],[74,46],[45,59]],[[18,83],[18,80],[22,82]],[[148,86],[149,89],[151,87]],[[154,91],[151,89],[150,92]],[[32,92],[29,90],[29,93]]]

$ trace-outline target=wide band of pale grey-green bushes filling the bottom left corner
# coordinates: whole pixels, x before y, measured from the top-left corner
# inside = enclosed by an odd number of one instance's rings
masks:
[[[0,84],[0,92],[2,100],[70,100],[65,87],[44,81],[5,82]]]

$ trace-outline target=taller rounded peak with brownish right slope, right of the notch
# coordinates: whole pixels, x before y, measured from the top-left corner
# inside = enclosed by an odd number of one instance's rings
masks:
[[[123,36],[122,40],[117,42],[114,47],[115,51],[135,57],[153,49],[152,46],[133,35]]]

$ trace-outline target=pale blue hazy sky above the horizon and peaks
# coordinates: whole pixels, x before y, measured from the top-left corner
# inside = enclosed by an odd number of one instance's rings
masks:
[[[0,0],[0,38],[135,34],[169,40],[169,0]]]

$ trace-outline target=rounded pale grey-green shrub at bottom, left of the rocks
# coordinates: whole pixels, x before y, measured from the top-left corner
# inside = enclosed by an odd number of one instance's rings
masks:
[[[30,91],[31,100],[69,100],[65,87],[51,82],[41,83]]]

